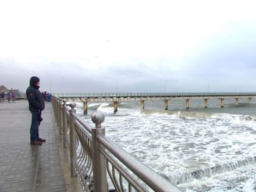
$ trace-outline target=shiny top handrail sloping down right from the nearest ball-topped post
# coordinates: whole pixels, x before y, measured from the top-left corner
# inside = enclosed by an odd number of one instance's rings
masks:
[[[149,187],[155,191],[181,191],[176,186],[172,185],[168,180],[158,175],[148,166],[141,163],[137,158],[130,155],[124,149],[120,148],[113,141],[108,140],[107,137],[100,135],[98,137],[101,143],[108,151],[112,152],[118,160],[127,166],[135,175],[143,180]]]

